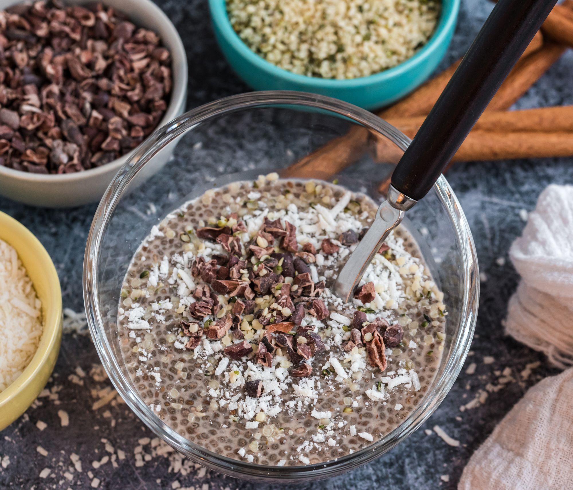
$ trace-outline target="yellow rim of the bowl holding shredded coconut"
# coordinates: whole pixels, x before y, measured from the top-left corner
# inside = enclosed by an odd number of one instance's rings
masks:
[[[46,277],[46,282],[49,283],[50,292],[49,301],[46,302],[47,304],[42,302],[44,330],[40,344],[38,344],[38,349],[25,370],[22,371],[22,374],[4,391],[0,392],[0,410],[2,410],[2,408],[7,406],[19,393],[26,390],[29,384],[32,383],[32,380],[40,374],[52,349],[58,344],[62,330],[62,293],[56,267],[40,240],[22,223],[2,211],[0,211],[0,229],[3,230],[2,233],[0,233],[0,239],[12,246],[18,253],[18,257],[20,256],[19,247],[14,243],[20,240],[21,246],[25,245],[34,252],[34,267],[42,269],[42,273],[45,274]],[[26,269],[28,270],[29,268],[26,267]],[[34,289],[36,289],[35,285]],[[36,398],[35,395],[30,400],[30,403],[33,402],[34,398]]]

